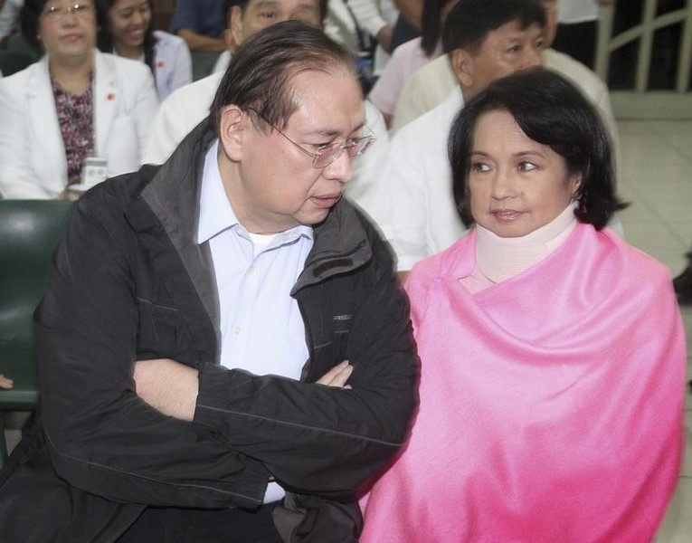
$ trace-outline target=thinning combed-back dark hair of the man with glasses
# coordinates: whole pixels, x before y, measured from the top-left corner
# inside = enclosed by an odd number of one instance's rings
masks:
[[[218,136],[223,109],[235,105],[284,129],[299,103],[292,79],[303,71],[351,71],[355,59],[322,30],[301,21],[284,21],[251,35],[231,58],[211,107]]]

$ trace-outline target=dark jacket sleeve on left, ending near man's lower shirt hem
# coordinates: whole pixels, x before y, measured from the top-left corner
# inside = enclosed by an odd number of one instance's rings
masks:
[[[97,187],[97,194],[103,194]],[[269,472],[204,428],[138,398],[138,252],[115,201],[75,208],[36,314],[43,428],[58,475],[109,500],[179,507],[254,506]],[[131,237],[128,237],[131,236]]]

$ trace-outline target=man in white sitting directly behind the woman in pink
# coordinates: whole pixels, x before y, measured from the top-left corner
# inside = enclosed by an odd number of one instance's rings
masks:
[[[451,197],[451,122],[491,81],[543,62],[544,25],[543,8],[535,0],[460,0],[447,15],[442,45],[459,84],[439,106],[396,133],[387,165],[391,216],[384,232],[399,271],[464,233]]]

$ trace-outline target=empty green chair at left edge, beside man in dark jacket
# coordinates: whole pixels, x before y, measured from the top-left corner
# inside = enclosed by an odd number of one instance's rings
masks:
[[[65,232],[73,202],[0,200],[0,373],[14,380],[0,389],[0,412],[38,405],[33,310],[45,291],[52,252]],[[7,458],[0,427],[0,467]]]

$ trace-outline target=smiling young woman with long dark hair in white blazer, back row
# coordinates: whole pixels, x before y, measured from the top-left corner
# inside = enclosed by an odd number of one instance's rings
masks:
[[[154,30],[151,0],[98,0],[106,15],[99,49],[146,62],[154,74],[158,98],[192,82],[192,57],[183,38]]]

